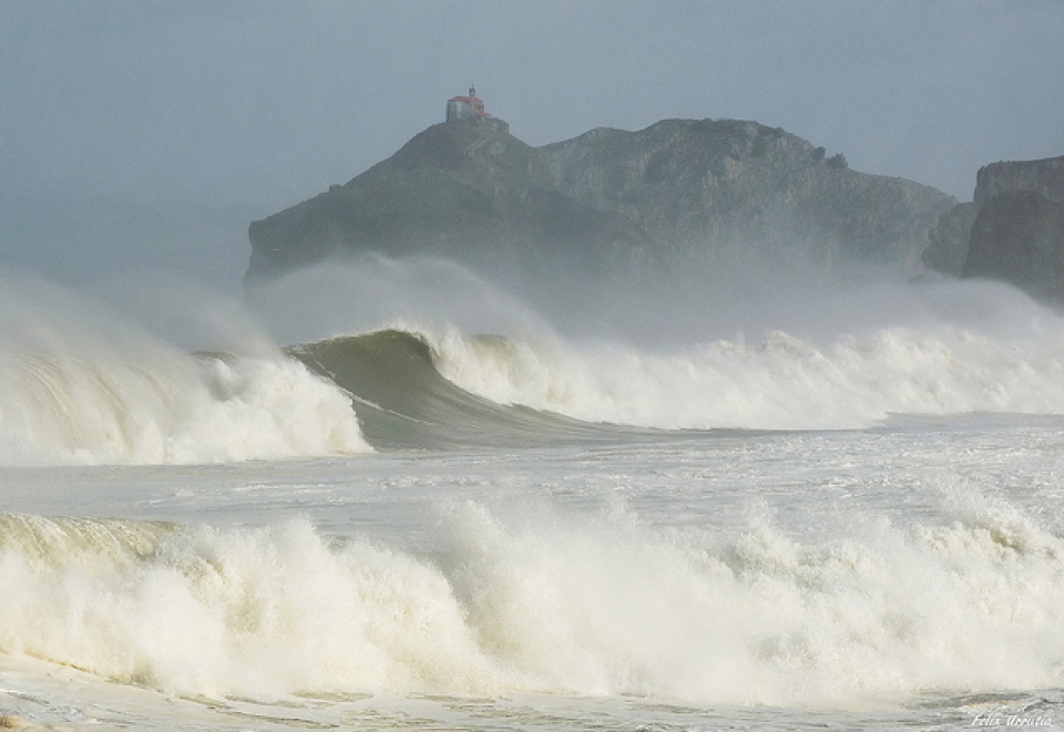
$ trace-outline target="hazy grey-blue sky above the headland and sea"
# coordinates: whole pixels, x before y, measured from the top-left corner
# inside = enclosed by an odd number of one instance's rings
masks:
[[[0,0],[0,268],[238,291],[470,84],[532,145],[755,120],[966,200],[1064,154],[1062,49],[1064,0]]]

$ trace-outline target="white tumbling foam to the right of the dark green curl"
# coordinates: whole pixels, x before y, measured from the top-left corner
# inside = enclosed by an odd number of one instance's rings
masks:
[[[841,429],[892,413],[1064,413],[1064,333],[889,327],[819,346],[784,332],[671,354],[557,338],[427,334],[444,377],[507,404],[666,429]]]

